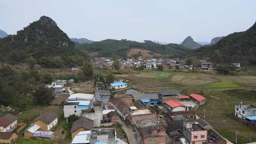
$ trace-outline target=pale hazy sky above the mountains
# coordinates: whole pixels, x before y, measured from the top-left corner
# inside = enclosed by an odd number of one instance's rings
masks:
[[[94,41],[210,41],[251,27],[256,0],[0,0],[0,29],[8,34],[43,15],[69,37]]]

